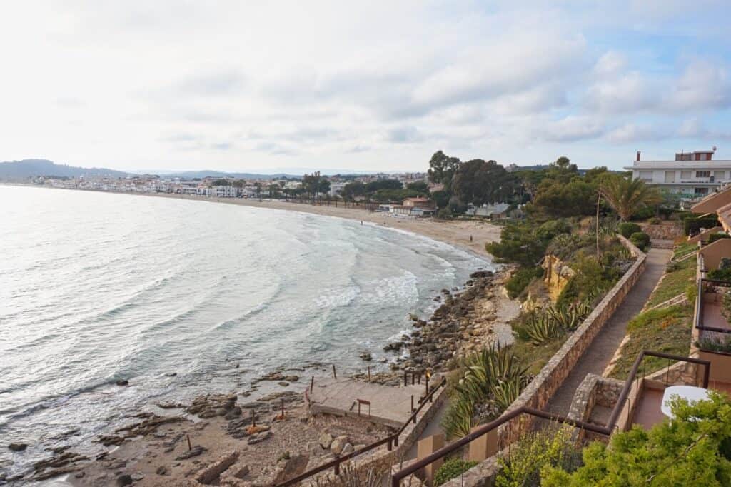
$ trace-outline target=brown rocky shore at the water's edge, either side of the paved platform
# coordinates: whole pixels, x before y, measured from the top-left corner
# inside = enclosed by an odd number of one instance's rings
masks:
[[[450,369],[466,352],[512,342],[508,322],[520,308],[504,296],[502,285],[510,271],[477,271],[462,289],[439,292],[434,301],[441,304],[431,317],[412,316],[411,333],[385,346],[398,356],[390,371],[372,374],[371,381],[397,385],[404,370]],[[360,358],[371,360],[368,352]],[[327,371],[322,363],[308,367]],[[157,404],[168,414],[143,412],[112,434],[99,435],[96,442],[108,448],[104,453],[89,458],[69,447],[57,448],[23,480],[67,475],[75,486],[194,486],[213,481],[268,486],[390,434],[385,426],[369,423],[364,428],[352,418],[309,415],[301,387],[241,401],[262,384],[297,384],[305,371],[275,371],[254,380],[247,390],[199,396],[190,404]],[[366,374],[355,377],[367,379]],[[23,445],[10,448],[21,450]],[[20,477],[0,477],[0,484],[13,480]]]

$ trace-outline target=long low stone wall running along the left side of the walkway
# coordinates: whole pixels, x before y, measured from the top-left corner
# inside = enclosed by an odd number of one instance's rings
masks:
[[[586,351],[591,341],[602,329],[605,323],[612,317],[618,306],[624,301],[627,293],[640,278],[645,270],[645,260],[647,256],[637,249],[626,238],[619,235],[621,243],[629,249],[629,252],[636,258],[635,263],[629,268],[624,276],[607,292],[604,299],[599,302],[593,312],[586,317],[586,320],[572,333],[561,349],[553,355],[548,363],[541,369],[539,374],[534,377],[528,387],[523,390],[518,399],[507,409],[512,411],[523,406],[534,407],[535,409],[543,409],[548,400],[556,393],[569,372],[573,369],[583,352]],[[524,416],[524,415],[521,415]],[[500,427],[499,438],[502,448],[509,445],[520,434],[531,427],[531,420],[519,417]]]

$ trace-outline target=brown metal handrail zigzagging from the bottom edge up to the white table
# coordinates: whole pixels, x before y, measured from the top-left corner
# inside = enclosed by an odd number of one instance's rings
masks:
[[[640,369],[640,363],[642,363],[643,358],[645,358],[645,355],[651,356],[651,357],[659,357],[659,358],[667,358],[670,360],[678,360],[683,362],[691,362],[691,363],[697,363],[705,366],[705,374],[703,375],[703,387],[708,388],[708,377],[711,371],[711,362],[708,360],[701,360],[698,358],[692,358],[692,357],[681,357],[679,355],[670,355],[667,353],[661,353],[661,352],[650,352],[643,350],[637,355],[637,359],[635,360],[635,363],[632,365],[632,370],[629,372],[629,377],[627,377],[627,380],[624,382],[624,388],[622,388],[621,393],[619,394],[619,397],[617,399],[617,403],[614,406],[614,409],[612,410],[612,414],[610,415],[609,420],[607,421],[606,426],[596,426],[591,423],[586,423],[585,421],[581,420],[573,420],[570,418],[567,418],[565,416],[561,415],[552,415],[550,412],[540,411],[539,409],[533,409],[532,407],[520,407],[518,409],[514,409],[513,411],[507,412],[504,415],[502,415],[500,418],[497,418],[496,420],[491,421],[490,423],[487,423],[483,426],[480,426],[479,428],[472,431],[470,434],[466,435],[465,437],[462,437],[455,442],[450,443],[447,446],[444,446],[443,448],[439,448],[439,450],[436,450],[434,453],[432,453],[429,456],[426,456],[425,458],[422,458],[421,460],[415,461],[413,464],[409,465],[408,467],[405,467],[404,469],[399,470],[398,472],[395,472],[391,476],[391,486],[392,487],[399,487],[401,484],[401,480],[405,477],[408,477],[409,475],[413,475],[414,473],[418,472],[420,469],[423,469],[428,464],[431,464],[433,461],[439,460],[439,458],[444,458],[444,456],[449,455],[450,453],[454,452],[455,450],[460,450],[463,448],[463,446],[469,444],[470,442],[474,441],[474,439],[477,439],[479,437],[482,437],[484,434],[488,434],[490,431],[493,431],[493,429],[498,428],[499,426],[503,425],[504,423],[507,423],[508,421],[517,418],[518,416],[522,414],[527,414],[531,416],[535,416],[537,418],[543,418],[548,419],[551,421],[556,421],[557,423],[564,423],[569,424],[571,426],[575,426],[578,429],[583,429],[586,431],[591,431],[593,433],[602,434],[603,436],[610,436],[614,429],[616,428],[616,423],[619,418],[619,415],[622,412],[622,409],[624,409],[624,402],[627,399],[627,396],[629,396],[629,391],[632,389],[632,382],[635,381],[635,377],[637,376],[637,371]]]

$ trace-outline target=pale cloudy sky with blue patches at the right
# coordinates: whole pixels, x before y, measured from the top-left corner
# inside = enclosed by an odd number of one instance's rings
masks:
[[[3,1],[0,160],[731,159],[728,1]]]

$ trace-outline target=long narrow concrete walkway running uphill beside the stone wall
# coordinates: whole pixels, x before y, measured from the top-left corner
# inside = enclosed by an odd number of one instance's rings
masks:
[[[632,287],[632,290],[624,298],[624,302],[619,306],[613,317],[596,335],[594,341],[591,342],[574,369],[569,373],[569,377],[553,394],[553,397],[544,408],[545,411],[567,415],[569,407],[571,407],[571,401],[574,399],[574,393],[586,374],[602,375],[602,372],[612,360],[617,347],[624,339],[627,323],[637,316],[645,306],[672,255],[672,250],[650,249],[647,254],[645,272],[637,280],[635,287]]]

